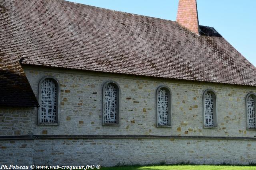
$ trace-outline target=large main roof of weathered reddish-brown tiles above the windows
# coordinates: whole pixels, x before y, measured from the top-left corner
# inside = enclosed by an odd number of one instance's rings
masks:
[[[256,68],[212,27],[198,36],[176,21],[63,0],[0,0],[0,21],[0,63],[24,82],[17,62],[26,57],[22,64],[256,86]]]

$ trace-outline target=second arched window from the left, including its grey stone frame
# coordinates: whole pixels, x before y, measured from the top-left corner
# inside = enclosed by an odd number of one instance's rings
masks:
[[[108,81],[103,86],[102,125],[119,125],[119,86]]]

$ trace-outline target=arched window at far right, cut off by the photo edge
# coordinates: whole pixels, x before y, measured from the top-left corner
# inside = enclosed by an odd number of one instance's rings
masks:
[[[255,99],[254,93],[246,96],[247,129],[256,129],[255,124]]]

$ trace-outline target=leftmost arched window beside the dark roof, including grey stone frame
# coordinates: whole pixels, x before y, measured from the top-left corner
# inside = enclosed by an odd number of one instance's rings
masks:
[[[38,89],[38,124],[58,125],[58,100],[58,81],[52,76],[42,78],[39,82]]]

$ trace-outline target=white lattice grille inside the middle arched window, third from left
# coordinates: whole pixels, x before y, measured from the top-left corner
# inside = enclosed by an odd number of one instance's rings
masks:
[[[158,114],[158,125],[167,126],[169,125],[169,113],[168,113],[168,92],[165,88],[160,88],[157,94],[157,114]]]

